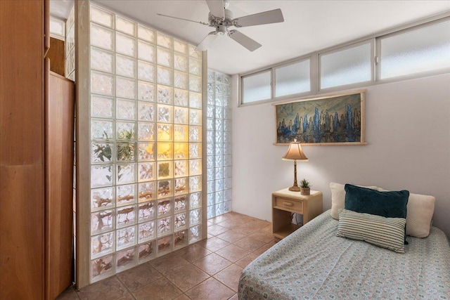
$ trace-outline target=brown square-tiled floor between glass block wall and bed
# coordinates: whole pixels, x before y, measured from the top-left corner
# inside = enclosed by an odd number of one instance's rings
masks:
[[[274,245],[271,223],[229,212],[208,220],[208,238],[58,299],[238,299],[243,268]]]

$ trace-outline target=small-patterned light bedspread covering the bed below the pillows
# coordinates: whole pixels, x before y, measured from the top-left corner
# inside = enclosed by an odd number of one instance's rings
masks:
[[[450,247],[432,227],[399,254],[336,237],[325,211],[252,261],[239,299],[450,299]]]

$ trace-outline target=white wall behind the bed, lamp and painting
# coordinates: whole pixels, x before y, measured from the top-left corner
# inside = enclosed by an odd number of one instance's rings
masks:
[[[273,105],[234,105],[233,211],[270,221],[271,193],[293,184],[293,162],[281,160],[288,147],[273,145],[275,134]],[[304,146],[298,180],[322,191],[324,210],[332,181],[433,195],[433,225],[450,237],[450,74],[368,87],[366,141]]]

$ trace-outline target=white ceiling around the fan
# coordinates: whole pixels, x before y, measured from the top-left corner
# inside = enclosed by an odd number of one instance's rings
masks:
[[[165,18],[156,13],[207,22],[204,0],[91,0],[157,30],[197,45],[212,27]],[[51,15],[63,18],[61,6],[72,0],[52,0]],[[248,51],[228,37],[208,50],[208,67],[238,74],[366,37],[439,13],[450,13],[450,1],[259,1],[230,0],[234,18],[281,8],[284,22],[238,29],[262,47]]]

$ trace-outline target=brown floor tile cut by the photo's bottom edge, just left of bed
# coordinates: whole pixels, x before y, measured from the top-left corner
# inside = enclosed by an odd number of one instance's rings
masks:
[[[226,300],[233,296],[234,292],[229,287],[221,284],[214,278],[208,278],[196,287],[189,289],[186,295],[195,300]]]

